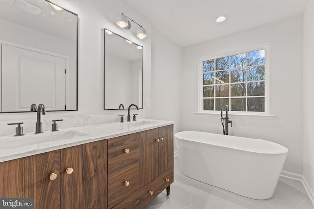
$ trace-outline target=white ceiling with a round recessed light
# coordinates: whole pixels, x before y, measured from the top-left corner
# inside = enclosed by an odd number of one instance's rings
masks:
[[[301,15],[307,0],[125,0],[181,47]],[[219,15],[227,15],[216,23]],[[145,25],[143,25],[145,28]]]

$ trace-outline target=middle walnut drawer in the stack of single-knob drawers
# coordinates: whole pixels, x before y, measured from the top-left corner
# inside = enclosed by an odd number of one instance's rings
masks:
[[[139,189],[139,163],[108,175],[108,207],[112,208]]]

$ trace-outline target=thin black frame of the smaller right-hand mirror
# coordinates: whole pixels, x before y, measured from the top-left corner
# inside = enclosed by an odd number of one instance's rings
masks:
[[[105,107],[105,101],[106,101],[106,96],[105,96],[105,89],[106,89],[106,84],[105,84],[105,78],[106,78],[106,40],[105,40],[105,34],[106,34],[106,32],[105,32],[105,30],[108,30],[108,31],[110,31],[110,32],[112,32],[111,30],[109,30],[109,29],[107,29],[107,28],[104,28],[104,110],[126,110],[126,109],[128,109],[128,107],[124,107],[124,108],[121,108],[121,109],[119,109],[119,108],[116,108],[116,109],[106,109],[106,107]],[[112,32],[113,34],[115,34],[115,35],[117,35],[117,36],[119,36],[119,37],[121,37],[121,38],[123,38],[123,39],[127,39],[127,38],[125,38],[125,37],[123,37],[123,36],[121,36],[121,35],[119,35],[119,34],[117,34],[117,33],[114,33],[114,32]],[[129,39],[128,39],[129,40]],[[132,41],[133,42],[133,41]],[[136,44],[136,45],[138,45],[138,46],[141,46],[141,45],[139,45],[139,44],[137,44],[137,43],[135,43],[135,42],[133,42],[133,44]],[[143,70],[144,70],[144,67],[143,67],[143,64],[144,64],[144,47],[143,46],[141,46],[142,47],[142,82],[141,82],[141,88],[142,88],[142,91],[141,91],[141,108],[138,108],[138,109],[143,109]],[[130,104],[129,104],[130,105]],[[136,108],[130,108],[130,109],[136,109]]]

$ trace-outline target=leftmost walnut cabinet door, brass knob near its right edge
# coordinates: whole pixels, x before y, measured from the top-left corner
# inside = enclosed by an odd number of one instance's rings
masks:
[[[60,208],[60,150],[0,163],[0,197],[34,198],[34,209]]]

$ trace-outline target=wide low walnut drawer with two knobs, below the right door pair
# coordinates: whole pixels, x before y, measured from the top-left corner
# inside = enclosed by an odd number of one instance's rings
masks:
[[[167,179],[167,180],[166,180]],[[169,179],[169,181],[168,181]],[[139,190],[140,209],[145,208],[158,194],[173,183],[173,168],[169,168],[156,179],[143,186]],[[153,192],[153,193],[152,193]]]

